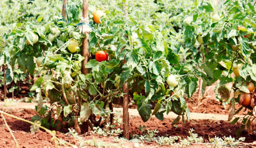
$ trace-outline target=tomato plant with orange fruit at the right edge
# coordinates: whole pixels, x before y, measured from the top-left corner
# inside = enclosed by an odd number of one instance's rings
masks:
[[[250,93],[252,86],[246,86],[246,84],[256,81],[256,48],[253,35],[256,30],[255,18],[253,18],[255,7],[251,2],[229,0],[217,8],[213,8],[207,2],[195,3],[193,11],[187,16],[192,19],[187,21],[184,34],[186,47],[199,51],[197,54],[202,59],[199,63],[199,67],[204,71],[201,75],[202,89],[204,90],[206,86],[220,80],[218,92],[222,99],[230,104],[228,120],[231,120],[233,115],[242,108],[249,109],[250,113],[242,119],[241,125],[241,128],[246,127],[245,129],[249,133],[252,133],[251,123],[255,122],[255,116],[251,114],[255,112],[255,105],[254,101],[251,101],[253,98],[253,94]],[[212,14],[219,15],[221,19],[213,20]],[[203,45],[198,45],[195,42],[198,35],[201,35]],[[228,69],[220,64],[227,61],[233,64]],[[236,77],[232,75],[232,71]],[[233,87],[228,88],[227,83],[233,83]],[[231,92],[234,93],[234,96],[230,96]],[[244,105],[237,111],[234,107],[236,102]],[[236,118],[232,124],[238,120],[239,118]],[[241,129],[238,130],[237,134],[239,135],[241,131]]]

